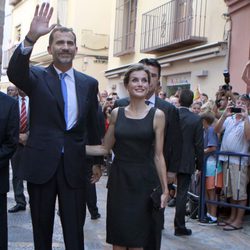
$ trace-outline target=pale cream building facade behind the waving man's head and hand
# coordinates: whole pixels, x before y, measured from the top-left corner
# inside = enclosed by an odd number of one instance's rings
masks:
[[[29,30],[30,22],[37,4],[43,0],[9,0],[12,6],[10,41],[4,51],[4,70],[16,45],[19,44]],[[73,28],[77,37],[78,52],[74,67],[99,81],[100,91],[107,85],[104,71],[107,69],[110,1],[101,0],[50,0],[54,7],[51,23]],[[98,7],[97,7],[98,6]],[[51,56],[47,52],[48,35],[41,37],[35,44],[31,63],[47,66]]]

